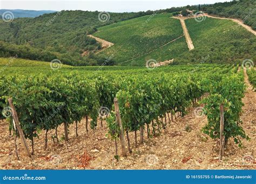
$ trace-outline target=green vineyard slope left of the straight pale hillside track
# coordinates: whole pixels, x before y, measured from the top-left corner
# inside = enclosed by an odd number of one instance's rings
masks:
[[[100,27],[93,36],[114,45],[100,52],[120,65],[145,65],[145,61],[169,60],[188,51],[179,20],[171,13],[144,16]]]

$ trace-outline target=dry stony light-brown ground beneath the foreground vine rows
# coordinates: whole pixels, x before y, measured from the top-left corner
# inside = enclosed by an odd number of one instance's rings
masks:
[[[248,85],[247,76],[246,84]],[[239,148],[232,140],[228,142],[223,160],[218,160],[216,140],[204,135],[201,128],[207,123],[205,116],[197,117],[193,109],[183,118],[168,123],[166,132],[146,138],[143,144],[134,147],[134,134],[130,133],[132,153],[128,157],[114,158],[114,141],[106,137],[106,124],[96,131],[86,134],[85,121],[78,125],[76,137],[75,124],[69,128],[69,142],[60,140],[57,145],[51,140],[54,131],[49,132],[47,150],[44,150],[44,132],[35,139],[35,155],[28,158],[22,151],[18,140],[20,160],[16,159],[14,137],[9,136],[8,123],[0,122],[0,169],[256,169],[256,95],[247,88],[243,99],[245,106],[241,116],[242,127],[251,141],[243,140]],[[190,126],[191,131],[185,131]],[[63,136],[59,128],[59,139]],[[139,132],[137,133],[139,135]],[[138,136],[139,140],[139,136]],[[29,143],[30,144],[30,143]],[[118,141],[118,153],[120,144]]]

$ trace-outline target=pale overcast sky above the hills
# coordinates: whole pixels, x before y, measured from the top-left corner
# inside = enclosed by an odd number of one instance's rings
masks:
[[[159,10],[173,6],[184,6],[194,4],[212,4],[230,0],[0,0],[0,9],[24,9],[24,10],[88,10],[88,11],[109,11],[109,12],[137,12],[146,10]]]

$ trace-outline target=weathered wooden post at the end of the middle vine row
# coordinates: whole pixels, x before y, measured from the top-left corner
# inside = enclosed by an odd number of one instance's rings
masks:
[[[119,138],[120,138],[120,143],[121,143],[121,148],[122,148],[122,155],[123,155],[123,157],[126,157],[127,153],[125,150],[124,130],[123,130],[123,125],[122,125],[122,121],[121,121],[121,117],[120,117],[117,98],[114,98],[114,112],[116,114],[116,121],[120,128]]]

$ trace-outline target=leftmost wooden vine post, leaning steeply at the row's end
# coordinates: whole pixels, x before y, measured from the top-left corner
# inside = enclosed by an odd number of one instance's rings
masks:
[[[15,126],[18,130],[19,136],[21,137],[22,146],[24,147],[24,150],[25,150],[26,154],[28,154],[28,156],[31,157],[31,154],[29,152],[29,146],[28,146],[28,144],[26,144],[26,139],[25,139],[24,133],[21,129],[21,126],[19,125],[19,119],[18,119],[17,111],[14,108],[14,104],[12,104],[12,99],[8,98],[8,102],[9,102],[9,105],[11,107],[12,118],[14,118]]]

